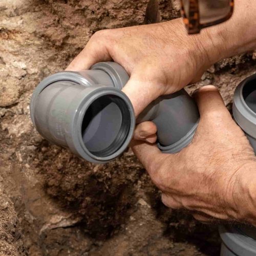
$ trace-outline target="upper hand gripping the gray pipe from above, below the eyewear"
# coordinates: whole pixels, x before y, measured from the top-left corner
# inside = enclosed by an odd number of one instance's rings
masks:
[[[89,69],[99,61],[119,63],[131,76],[123,92],[136,116],[154,99],[199,80],[220,56],[221,36],[188,36],[182,19],[96,32],[68,70]],[[210,47],[210,49],[208,49]],[[208,50],[208,51],[207,51]]]

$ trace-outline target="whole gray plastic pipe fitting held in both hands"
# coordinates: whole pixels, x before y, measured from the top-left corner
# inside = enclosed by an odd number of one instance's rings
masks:
[[[129,75],[115,62],[51,75],[33,92],[32,122],[49,141],[94,163],[123,153],[136,122],[146,120],[156,123],[162,152],[177,153],[187,146],[199,121],[194,100],[184,90],[160,97],[136,121],[131,101],[121,91],[128,80]]]

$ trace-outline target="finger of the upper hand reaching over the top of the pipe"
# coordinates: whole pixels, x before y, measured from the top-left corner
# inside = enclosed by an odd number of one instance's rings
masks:
[[[66,70],[88,70],[97,62],[111,61],[112,58],[107,44],[104,42],[103,33],[104,32],[101,31],[102,36],[98,36],[95,33],[86,47],[84,47],[84,49],[74,58]]]

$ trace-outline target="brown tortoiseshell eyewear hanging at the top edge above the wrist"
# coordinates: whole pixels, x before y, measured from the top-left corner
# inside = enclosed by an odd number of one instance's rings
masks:
[[[228,20],[234,9],[234,0],[181,0],[181,15],[188,34]]]

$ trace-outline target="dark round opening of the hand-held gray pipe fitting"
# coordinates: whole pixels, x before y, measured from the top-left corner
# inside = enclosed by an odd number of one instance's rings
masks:
[[[96,157],[111,156],[125,142],[130,126],[131,114],[125,101],[116,95],[101,96],[84,114],[83,143]]]

